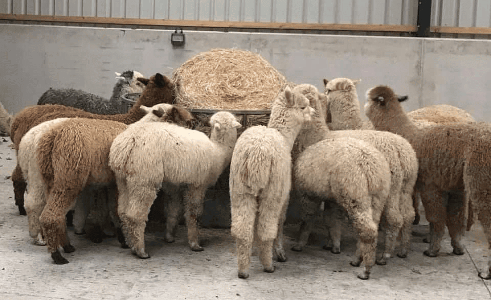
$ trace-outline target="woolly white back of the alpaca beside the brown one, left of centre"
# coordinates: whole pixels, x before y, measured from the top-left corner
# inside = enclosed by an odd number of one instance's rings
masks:
[[[139,123],[116,137],[109,159],[117,174],[149,176],[147,170],[155,170],[155,181],[200,185],[216,181],[228,163],[224,154],[203,132],[170,123]],[[196,176],[210,170],[215,171]]]

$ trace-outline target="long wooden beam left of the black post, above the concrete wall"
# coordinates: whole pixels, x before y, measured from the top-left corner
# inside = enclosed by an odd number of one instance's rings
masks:
[[[339,30],[339,31],[377,31],[377,32],[416,32],[413,25],[378,24],[319,24],[319,23],[280,23],[280,22],[235,22],[170,19],[134,19],[105,17],[68,17],[51,15],[0,14],[0,20],[66,22],[85,24],[112,24],[133,26],[203,27],[203,28],[249,28],[286,30]]]

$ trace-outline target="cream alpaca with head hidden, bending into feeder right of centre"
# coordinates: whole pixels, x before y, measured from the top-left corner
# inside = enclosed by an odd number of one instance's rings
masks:
[[[390,191],[384,155],[352,137],[328,138],[308,146],[294,163],[294,187],[303,196],[330,198],[343,207],[358,233],[352,266],[368,279],[375,263],[378,224]]]

